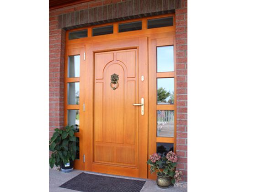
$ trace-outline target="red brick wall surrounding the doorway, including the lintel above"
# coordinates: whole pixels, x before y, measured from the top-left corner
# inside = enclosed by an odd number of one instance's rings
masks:
[[[49,11],[49,137],[64,126],[65,30],[176,12],[177,155],[187,181],[187,0],[94,0]],[[62,29],[64,28],[64,29]]]

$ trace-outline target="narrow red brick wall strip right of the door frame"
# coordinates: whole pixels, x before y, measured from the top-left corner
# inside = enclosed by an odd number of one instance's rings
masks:
[[[176,13],[176,78],[177,78],[177,168],[187,181],[187,0],[181,1]]]

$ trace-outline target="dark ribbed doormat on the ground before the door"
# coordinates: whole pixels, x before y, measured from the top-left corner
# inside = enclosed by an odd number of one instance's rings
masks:
[[[80,173],[59,187],[81,192],[140,192],[145,182]]]

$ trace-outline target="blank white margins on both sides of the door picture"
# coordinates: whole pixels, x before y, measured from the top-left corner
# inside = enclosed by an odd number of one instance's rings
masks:
[[[253,0],[188,2],[188,191],[255,192]],[[48,2],[0,11],[0,191],[48,191]]]

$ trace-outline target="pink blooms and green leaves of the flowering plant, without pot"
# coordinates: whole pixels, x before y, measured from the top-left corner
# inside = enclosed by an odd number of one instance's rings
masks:
[[[175,171],[177,160],[177,155],[174,152],[169,151],[166,156],[162,157],[157,153],[150,155],[147,163],[150,165],[151,174],[157,171],[157,175],[159,176],[171,176],[171,183],[174,184],[182,179],[182,172]],[[160,169],[162,169],[162,171]]]

